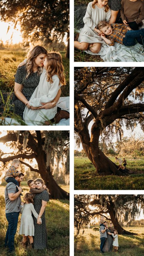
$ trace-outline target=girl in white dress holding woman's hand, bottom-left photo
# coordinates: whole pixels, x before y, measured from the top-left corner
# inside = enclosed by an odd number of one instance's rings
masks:
[[[35,216],[35,218],[38,218],[38,213],[36,213],[34,206],[33,206],[33,195],[30,193],[26,193],[23,200],[25,203],[21,203],[22,207],[20,210],[20,213],[22,213],[21,216],[21,223],[19,228],[19,234],[23,235],[23,246],[26,247],[27,243],[27,236],[29,237],[30,241],[30,247],[33,247],[33,236],[34,236],[34,223],[33,223],[33,217],[32,213]]]

